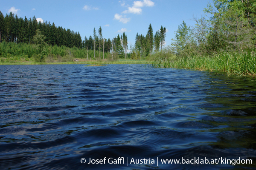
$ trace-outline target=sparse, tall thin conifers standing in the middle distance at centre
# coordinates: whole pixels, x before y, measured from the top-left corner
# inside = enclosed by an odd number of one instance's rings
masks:
[[[146,36],[143,36],[143,34],[139,35],[137,33],[135,37],[135,44],[131,45],[130,49],[128,48],[128,39],[125,32],[121,35],[118,34],[117,37],[114,37],[112,40],[109,38],[107,40],[102,37],[101,27],[99,27],[98,33],[99,34],[97,34],[96,29],[94,28],[93,37],[84,37],[84,40],[82,41],[83,48],[93,51],[102,51],[100,50],[100,48],[102,48],[103,51],[105,50],[107,52],[114,53],[119,58],[125,59],[129,50],[129,53],[132,55],[132,59],[142,59],[164,48],[166,28],[161,26],[154,35],[152,26],[149,24]]]

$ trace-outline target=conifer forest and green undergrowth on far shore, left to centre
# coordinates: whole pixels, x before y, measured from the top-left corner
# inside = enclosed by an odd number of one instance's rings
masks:
[[[136,43],[128,53],[128,39],[125,32],[112,39],[102,36],[102,28],[93,29],[93,36],[81,40],[79,32],[71,31],[54,23],[37,21],[0,11],[0,57],[2,62],[11,60],[30,60],[36,62],[73,61],[73,58],[86,59],[142,59],[162,48],[166,28],[153,34],[151,24],[146,36],[136,35]]]

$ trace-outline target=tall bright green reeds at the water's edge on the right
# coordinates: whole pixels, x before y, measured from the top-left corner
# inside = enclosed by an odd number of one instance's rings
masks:
[[[156,59],[154,68],[185,68],[208,71],[221,71],[227,74],[256,75],[256,53],[220,53],[208,56],[183,57],[175,60]]]

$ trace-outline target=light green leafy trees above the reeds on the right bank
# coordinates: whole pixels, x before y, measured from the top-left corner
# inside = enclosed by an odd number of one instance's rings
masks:
[[[195,26],[178,27],[171,43],[177,56],[256,49],[256,0],[213,0],[204,12]]]

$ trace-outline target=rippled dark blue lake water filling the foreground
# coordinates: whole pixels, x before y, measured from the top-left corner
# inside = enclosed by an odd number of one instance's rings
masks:
[[[124,164],[88,164],[105,157]],[[157,158],[194,157],[253,164],[157,166]],[[0,65],[1,170],[240,170],[255,162],[255,79],[141,65]]]

